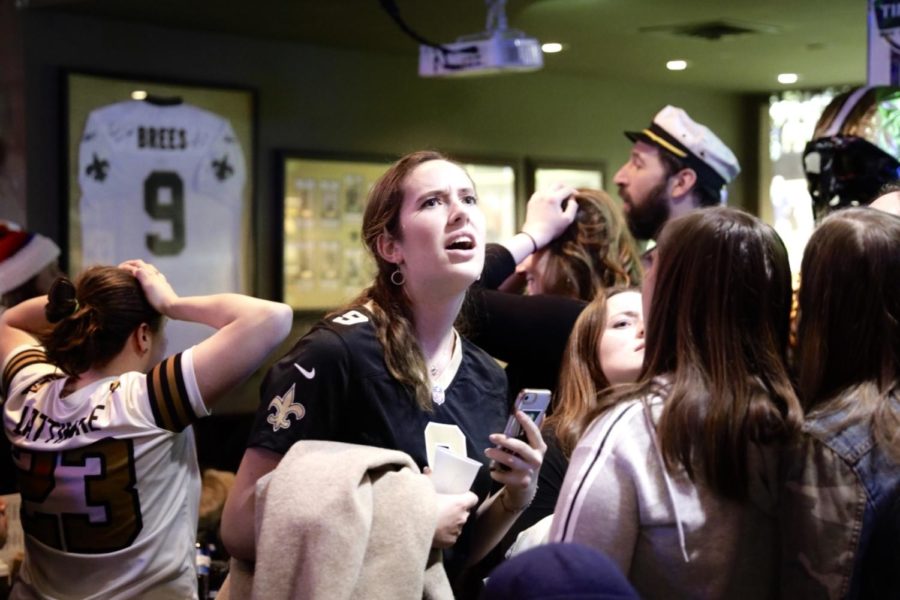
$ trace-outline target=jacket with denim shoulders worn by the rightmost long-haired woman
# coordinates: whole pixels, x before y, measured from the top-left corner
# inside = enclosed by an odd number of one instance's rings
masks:
[[[785,598],[900,597],[900,465],[870,421],[814,415],[788,451],[781,498]]]

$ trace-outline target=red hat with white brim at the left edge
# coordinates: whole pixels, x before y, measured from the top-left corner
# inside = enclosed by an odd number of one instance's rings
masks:
[[[0,294],[16,289],[59,257],[59,246],[38,233],[0,221]]]

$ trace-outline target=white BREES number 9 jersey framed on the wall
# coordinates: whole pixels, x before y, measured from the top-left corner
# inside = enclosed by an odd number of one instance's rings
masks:
[[[242,291],[244,156],[227,120],[129,100],[88,117],[78,182],[82,265],[141,258],[180,295]],[[170,351],[209,329],[175,324]]]

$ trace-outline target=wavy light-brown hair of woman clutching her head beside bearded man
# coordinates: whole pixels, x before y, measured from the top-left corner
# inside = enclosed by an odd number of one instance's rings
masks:
[[[575,221],[540,251],[547,255],[544,293],[590,302],[604,288],[639,285],[640,254],[622,209],[600,190],[580,189],[572,200]]]

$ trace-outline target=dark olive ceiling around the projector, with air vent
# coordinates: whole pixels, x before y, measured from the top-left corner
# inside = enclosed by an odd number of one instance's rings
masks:
[[[482,0],[396,0],[396,5],[410,27],[436,42],[485,26]],[[864,82],[866,5],[859,0],[509,0],[506,13],[511,27],[565,45],[562,53],[545,56],[547,70],[767,92],[783,89],[776,81],[783,72],[799,75],[791,86],[796,88]],[[19,6],[409,55],[413,69],[418,52],[378,0],[19,0]],[[687,60],[689,67],[669,72],[670,59]]]

